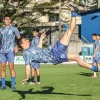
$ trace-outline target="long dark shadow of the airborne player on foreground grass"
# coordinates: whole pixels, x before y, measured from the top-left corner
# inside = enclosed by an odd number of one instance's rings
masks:
[[[29,89],[28,91],[21,91],[21,90],[16,90],[13,92],[17,92],[18,94],[21,95],[21,98],[19,100],[25,99],[25,95],[26,94],[56,94],[56,95],[76,95],[76,96],[91,96],[91,94],[69,94],[69,93],[56,93],[56,92],[52,92],[54,90],[53,87],[49,87],[49,86],[45,86],[42,87],[42,91],[32,91],[33,88]]]

